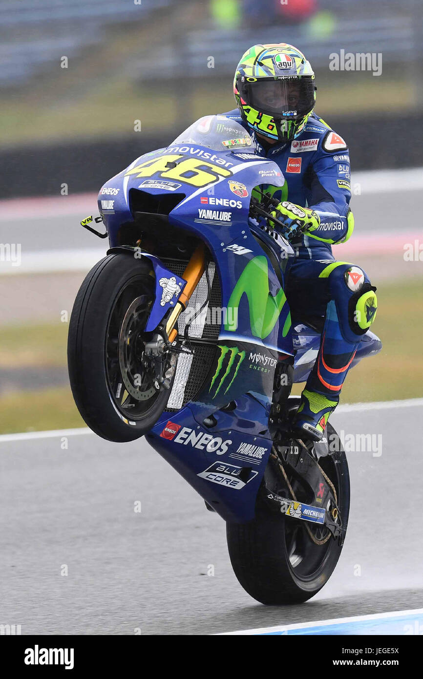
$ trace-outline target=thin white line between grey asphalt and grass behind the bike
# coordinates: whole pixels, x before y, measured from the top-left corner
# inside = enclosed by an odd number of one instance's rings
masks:
[[[293,397],[295,398],[295,397]],[[404,399],[403,401],[370,401],[369,403],[345,403],[339,405],[337,413],[354,413],[363,410],[388,410],[390,408],[409,408],[423,406],[423,399]],[[32,439],[54,439],[62,436],[79,436],[93,434],[88,427],[77,429],[52,429],[47,431],[29,431],[19,434],[1,434],[0,443],[11,441],[31,441]]]

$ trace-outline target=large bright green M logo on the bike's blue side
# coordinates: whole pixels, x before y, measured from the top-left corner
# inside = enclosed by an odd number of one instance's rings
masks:
[[[226,331],[236,331],[238,328],[238,306],[244,294],[249,300],[251,333],[255,337],[265,339],[274,329],[287,297],[282,288],[274,297],[270,294],[268,260],[264,255],[250,259],[238,278],[227,303],[227,318],[233,318],[234,322],[229,323],[227,320]],[[291,314],[288,312],[282,328],[282,337],[287,335],[290,327]]]

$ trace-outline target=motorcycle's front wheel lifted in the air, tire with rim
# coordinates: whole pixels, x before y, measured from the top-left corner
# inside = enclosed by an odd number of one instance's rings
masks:
[[[144,327],[153,300],[149,261],[124,253],[99,261],[75,299],[69,323],[69,380],[79,413],[103,439],[138,439],[166,407],[170,388],[163,387],[160,375],[176,358],[164,354],[153,363],[145,354],[151,333]]]

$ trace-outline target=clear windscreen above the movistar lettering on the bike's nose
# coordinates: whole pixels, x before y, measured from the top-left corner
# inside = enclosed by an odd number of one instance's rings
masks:
[[[224,115],[205,115],[177,136],[173,144],[198,144],[212,151],[249,149],[254,153],[253,140],[236,120]]]

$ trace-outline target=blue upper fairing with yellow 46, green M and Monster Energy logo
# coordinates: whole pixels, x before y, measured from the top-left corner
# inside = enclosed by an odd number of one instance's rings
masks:
[[[197,397],[214,407],[246,390],[270,401],[278,355],[293,353],[291,316],[280,272],[278,276],[248,221],[251,191],[270,181],[283,186],[278,166],[253,153],[213,153],[196,145],[173,145],[135,160],[101,189],[98,199],[109,238],[115,242],[120,223],[132,219],[131,189],[185,195],[171,210],[169,222],[206,242],[221,285],[217,352]],[[276,244],[275,251],[277,259]],[[177,301],[177,295],[172,301]],[[152,316],[160,318],[160,309]]]

